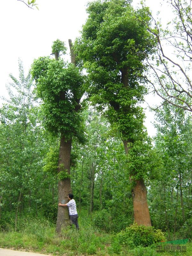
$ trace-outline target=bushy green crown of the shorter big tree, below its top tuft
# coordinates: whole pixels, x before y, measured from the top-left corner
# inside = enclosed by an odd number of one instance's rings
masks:
[[[32,64],[36,94],[43,100],[44,126],[50,132],[84,141],[84,120],[78,105],[84,93],[84,76],[74,64],[40,57]],[[78,103],[77,103],[78,102]]]

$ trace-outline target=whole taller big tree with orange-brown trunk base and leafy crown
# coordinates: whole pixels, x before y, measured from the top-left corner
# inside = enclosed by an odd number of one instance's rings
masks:
[[[146,29],[148,10],[135,11],[125,0],[90,3],[81,38],[76,41],[78,63],[87,68],[87,91],[92,103],[103,111],[121,134],[127,155],[127,170],[133,183],[134,219],[150,226],[144,162],[150,141],[139,106],[146,93],[143,60],[152,53],[154,40]],[[145,160],[144,160],[145,159]]]

